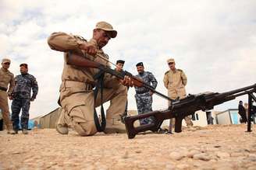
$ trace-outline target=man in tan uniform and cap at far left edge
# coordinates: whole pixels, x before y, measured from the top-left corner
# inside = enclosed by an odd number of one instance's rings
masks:
[[[14,75],[9,71],[11,61],[8,58],[2,59],[2,68],[0,68],[0,109],[2,110],[2,118],[7,127],[8,134],[15,134],[12,130],[12,121],[9,117],[8,96],[12,99],[12,91],[14,88]]]

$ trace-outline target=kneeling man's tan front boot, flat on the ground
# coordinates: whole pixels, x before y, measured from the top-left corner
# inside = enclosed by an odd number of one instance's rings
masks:
[[[126,126],[122,123],[120,117],[117,119],[107,119],[104,132],[105,134],[126,134]]]

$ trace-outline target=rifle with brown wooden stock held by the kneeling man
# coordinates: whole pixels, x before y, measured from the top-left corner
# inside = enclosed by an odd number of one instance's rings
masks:
[[[105,57],[102,57],[100,54],[96,54],[96,55],[98,57],[101,57],[102,59],[105,59],[106,61],[108,61],[108,59],[106,59]],[[123,79],[124,76],[129,76],[133,81],[133,85],[135,85],[137,87],[148,88],[149,90],[151,90],[151,92],[154,92],[156,95],[159,95],[164,99],[172,101],[172,99],[170,99],[168,96],[163,95],[161,92],[156,91],[155,88],[153,88],[151,85],[146,84],[145,82],[140,80],[140,78],[133,76],[128,71],[116,71],[116,70],[113,70],[112,68],[108,68],[107,66],[105,66],[103,64],[99,64],[97,62],[91,61],[91,60],[87,59],[86,57],[82,57],[80,55],[72,54],[72,53],[69,53],[69,55],[68,55],[67,64],[72,64],[72,65],[76,65],[78,67],[83,67],[83,68],[84,67],[98,68],[99,70],[104,71],[110,75],[115,75],[117,78],[120,78],[120,79]]]

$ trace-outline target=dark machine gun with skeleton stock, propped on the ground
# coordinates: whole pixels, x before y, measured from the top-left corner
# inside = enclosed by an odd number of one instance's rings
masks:
[[[128,138],[135,137],[136,134],[140,132],[144,132],[147,130],[151,130],[152,132],[156,132],[162,125],[163,120],[175,118],[175,132],[180,133],[182,120],[185,116],[189,116],[194,114],[197,110],[208,110],[213,109],[214,106],[222,104],[223,102],[227,102],[229,100],[236,99],[237,96],[240,95],[248,95],[249,96],[249,116],[251,115],[251,100],[254,99],[256,102],[255,96],[252,94],[256,92],[256,84],[250,85],[244,88],[238,88],[230,92],[204,92],[199,93],[197,95],[188,95],[184,99],[180,99],[178,101],[172,102],[168,109],[165,110],[157,110],[149,113],[143,113],[136,116],[126,116],[124,118],[124,122],[126,125],[126,130],[128,134]],[[153,116],[155,121],[153,123],[140,125],[138,127],[134,127],[133,123],[136,120],[144,119],[147,117]],[[251,120],[248,119],[248,131],[249,124],[251,126]]]

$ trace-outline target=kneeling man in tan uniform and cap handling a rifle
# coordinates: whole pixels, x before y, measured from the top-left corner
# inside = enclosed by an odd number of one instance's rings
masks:
[[[117,31],[109,23],[99,22],[93,29],[92,39],[88,41],[81,36],[67,33],[52,33],[48,37],[48,45],[52,50],[65,52],[59,99],[62,109],[56,125],[59,134],[68,134],[70,124],[80,136],[94,135],[97,131],[102,130],[106,134],[126,133],[126,128],[120,121],[120,114],[124,112],[127,99],[127,89],[124,85],[132,85],[130,78],[125,77],[121,81],[122,85],[116,76],[105,74],[102,100],[100,95],[94,99],[93,88],[96,84],[94,75],[99,70],[97,68],[80,68],[66,63],[69,51],[72,51],[88,60],[109,66],[108,55],[102,48],[111,38],[115,38],[116,34]],[[100,106],[101,102],[107,101],[110,101],[110,106],[106,111],[106,125],[104,128],[101,123],[101,127],[99,127],[98,121],[96,121],[98,118],[94,117],[94,108]],[[101,120],[104,119],[101,117]]]

